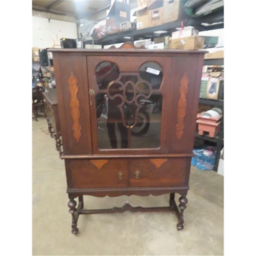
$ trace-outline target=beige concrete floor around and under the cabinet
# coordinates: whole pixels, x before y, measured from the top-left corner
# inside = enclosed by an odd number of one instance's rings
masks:
[[[33,121],[33,255],[223,255],[223,177],[192,167],[184,229],[173,212],[80,215],[71,233],[64,160],[47,122]],[[96,198],[85,208],[167,206],[169,195]],[[175,198],[177,199],[177,197]]]

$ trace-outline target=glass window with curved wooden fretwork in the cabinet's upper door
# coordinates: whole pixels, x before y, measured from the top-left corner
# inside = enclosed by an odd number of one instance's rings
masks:
[[[89,72],[94,151],[160,150],[163,68],[152,58],[134,67],[121,64],[122,57],[105,59]]]

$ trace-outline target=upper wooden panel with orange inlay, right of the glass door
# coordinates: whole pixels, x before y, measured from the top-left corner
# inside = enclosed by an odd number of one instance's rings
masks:
[[[203,58],[199,54],[172,58],[169,153],[193,149]]]

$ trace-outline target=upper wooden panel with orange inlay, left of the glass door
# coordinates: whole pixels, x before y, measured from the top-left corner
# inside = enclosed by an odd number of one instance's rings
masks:
[[[91,154],[85,55],[54,53],[53,61],[64,154]]]

